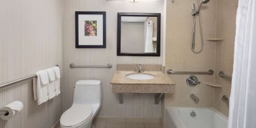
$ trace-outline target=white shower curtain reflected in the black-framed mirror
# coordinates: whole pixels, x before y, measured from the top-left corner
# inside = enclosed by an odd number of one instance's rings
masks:
[[[153,21],[145,21],[145,51],[154,52],[153,47]]]

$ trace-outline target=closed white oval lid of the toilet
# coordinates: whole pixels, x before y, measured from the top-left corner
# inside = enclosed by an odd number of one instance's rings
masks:
[[[84,124],[92,117],[92,107],[84,104],[73,104],[71,108],[67,109],[61,116],[62,126],[76,126],[77,124]]]

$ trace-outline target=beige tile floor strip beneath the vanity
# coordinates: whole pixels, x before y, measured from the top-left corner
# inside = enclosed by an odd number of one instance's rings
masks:
[[[94,128],[162,128],[160,122],[160,118],[96,117],[93,123]]]

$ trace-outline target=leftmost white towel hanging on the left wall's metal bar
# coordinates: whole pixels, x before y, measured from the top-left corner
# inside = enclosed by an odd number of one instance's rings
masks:
[[[33,91],[34,91],[34,100],[37,100],[37,104],[40,105],[46,101],[48,101],[48,89],[46,80],[44,81],[44,84],[42,84],[41,80],[41,74],[44,76],[43,71],[36,72],[37,79],[33,79]]]

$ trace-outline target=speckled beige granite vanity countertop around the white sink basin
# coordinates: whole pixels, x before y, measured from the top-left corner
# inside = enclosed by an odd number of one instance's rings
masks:
[[[127,74],[151,74],[155,78],[136,80],[126,77]],[[161,71],[116,71],[111,84],[116,93],[173,93],[175,90],[175,83]]]

